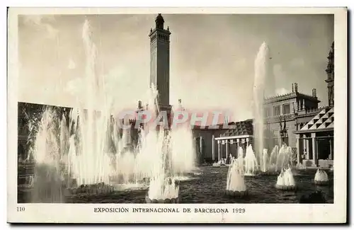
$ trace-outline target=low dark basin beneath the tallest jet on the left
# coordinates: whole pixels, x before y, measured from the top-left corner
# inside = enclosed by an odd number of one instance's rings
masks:
[[[105,185],[104,183],[97,183],[93,185],[81,185],[78,188],[67,188],[65,195],[78,195],[78,194],[108,194],[114,190],[112,185]]]

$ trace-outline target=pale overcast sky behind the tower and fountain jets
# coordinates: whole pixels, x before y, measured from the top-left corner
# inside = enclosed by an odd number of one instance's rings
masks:
[[[222,108],[233,120],[252,117],[254,59],[265,41],[276,93],[317,95],[326,105],[331,15],[163,15],[171,30],[170,103],[190,110]],[[88,19],[98,76],[122,107],[144,98],[149,84],[149,31],[155,15],[56,15],[18,18],[18,100],[75,105],[70,88],[85,76],[82,27]],[[75,85],[75,84],[74,84]],[[82,85],[82,84],[81,84]],[[81,95],[84,96],[84,95]]]

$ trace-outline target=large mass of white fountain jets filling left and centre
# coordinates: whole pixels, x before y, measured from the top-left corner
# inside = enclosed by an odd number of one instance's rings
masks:
[[[32,130],[36,133],[30,151],[35,160],[32,200],[63,202],[63,190],[67,189],[112,192],[113,188],[140,184],[146,188],[148,181],[148,197],[171,199],[179,190],[174,177],[195,168],[190,126],[164,130],[156,129],[155,122],[146,122],[135,127],[138,141],[132,145],[130,120],[135,117],[113,114],[117,104],[105,91],[103,77],[96,74],[96,45],[91,31],[86,20],[82,31],[86,78],[76,86],[83,100],[69,115],[48,108],[38,128]],[[145,113],[159,112],[155,86],[149,88],[148,95]]]

